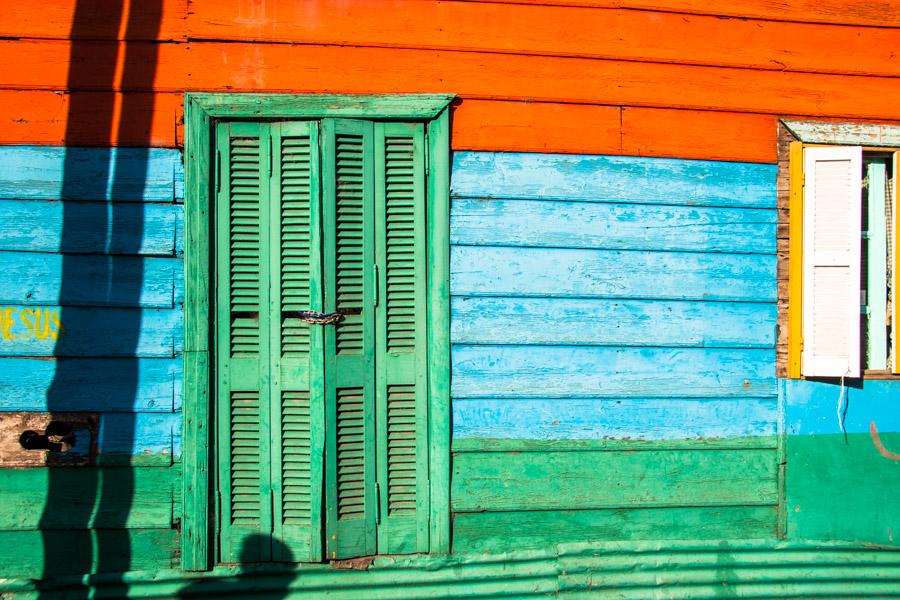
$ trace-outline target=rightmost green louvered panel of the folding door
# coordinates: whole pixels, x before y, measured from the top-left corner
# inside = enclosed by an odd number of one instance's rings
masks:
[[[375,124],[378,552],[428,550],[425,133]]]

